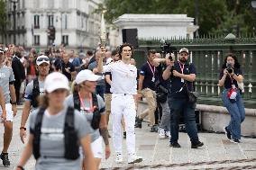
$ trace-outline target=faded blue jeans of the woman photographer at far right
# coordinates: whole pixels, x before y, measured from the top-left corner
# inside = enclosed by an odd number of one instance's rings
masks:
[[[222,100],[224,107],[230,113],[231,121],[229,122],[227,129],[231,132],[233,139],[241,139],[241,123],[245,119],[244,104],[242,101],[242,96],[239,91],[237,91],[236,101],[231,103],[227,93],[229,89],[224,89]]]

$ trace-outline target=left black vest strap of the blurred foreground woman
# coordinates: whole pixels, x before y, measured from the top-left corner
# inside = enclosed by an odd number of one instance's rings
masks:
[[[41,121],[42,121],[44,111],[45,111],[45,108],[40,108],[35,120],[34,133],[33,133],[34,139],[32,141],[33,156],[35,159],[38,159],[41,156],[40,155]]]

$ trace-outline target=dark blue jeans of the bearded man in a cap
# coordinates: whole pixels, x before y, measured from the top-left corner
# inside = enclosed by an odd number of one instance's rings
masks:
[[[168,98],[170,110],[170,143],[178,142],[178,121],[182,115],[191,143],[199,141],[196,123],[196,103],[187,103],[187,98]]]

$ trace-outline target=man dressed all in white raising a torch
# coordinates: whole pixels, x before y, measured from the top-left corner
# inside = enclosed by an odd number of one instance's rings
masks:
[[[111,112],[113,115],[113,145],[116,153],[115,161],[123,162],[122,155],[122,115],[125,121],[126,147],[128,152],[128,164],[142,162],[142,157],[135,153],[135,102],[133,97],[137,97],[137,68],[130,64],[133,55],[133,46],[123,44],[118,51],[121,60],[103,67],[104,50],[99,59],[98,71],[111,72],[112,83],[110,91],[112,93]]]

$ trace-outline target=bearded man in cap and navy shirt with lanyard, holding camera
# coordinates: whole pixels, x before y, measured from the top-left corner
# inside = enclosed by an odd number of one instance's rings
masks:
[[[168,103],[170,110],[170,147],[180,148],[178,144],[178,121],[183,114],[187,135],[191,141],[191,148],[202,147],[197,135],[195,116],[196,103],[188,103],[188,90],[192,90],[192,82],[196,80],[196,67],[188,63],[188,49],[179,50],[178,61],[168,61],[168,67],[163,72],[163,79],[170,80]],[[187,88],[186,88],[187,84]]]

